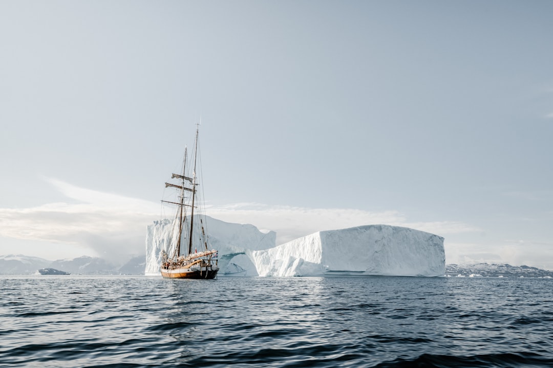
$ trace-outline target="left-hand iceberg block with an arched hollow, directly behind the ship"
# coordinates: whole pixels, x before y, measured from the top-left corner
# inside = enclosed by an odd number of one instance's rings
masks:
[[[246,250],[262,250],[275,246],[276,233],[262,232],[253,225],[229,223],[206,216],[205,230],[212,249],[219,254],[219,275],[257,276],[252,261],[247,257]],[[196,217],[194,221],[197,223]],[[146,275],[159,275],[161,250],[171,253],[172,239],[178,236],[174,220],[154,221],[147,228],[146,234]],[[186,249],[186,239],[181,241],[181,249]]]

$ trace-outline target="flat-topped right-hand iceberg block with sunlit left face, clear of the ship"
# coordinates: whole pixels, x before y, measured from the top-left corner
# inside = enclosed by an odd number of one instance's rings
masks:
[[[278,247],[249,250],[259,276],[441,276],[444,238],[406,227],[319,231]]]

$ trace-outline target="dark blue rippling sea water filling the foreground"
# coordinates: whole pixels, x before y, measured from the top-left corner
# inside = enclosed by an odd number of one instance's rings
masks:
[[[553,367],[553,280],[1,276],[2,367]]]

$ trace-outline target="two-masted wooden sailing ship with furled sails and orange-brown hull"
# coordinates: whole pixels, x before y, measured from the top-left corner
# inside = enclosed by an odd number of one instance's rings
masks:
[[[194,143],[194,158],[187,163],[187,148],[185,148],[182,163],[182,174],[173,174],[171,179],[178,184],[165,183],[165,188],[175,188],[178,199],[161,202],[176,205],[173,243],[168,251],[161,252],[161,276],[166,279],[214,279],[217,276],[217,250],[210,249],[206,235],[205,216],[201,214],[201,191],[197,183],[198,135]],[[192,166],[193,162],[193,166]],[[187,212],[190,210],[190,215]],[[181,243],[185,251],[181,254]],[[200,252],[198,252],[200,249]],[[169,252],[169,253],[168,253]]]

